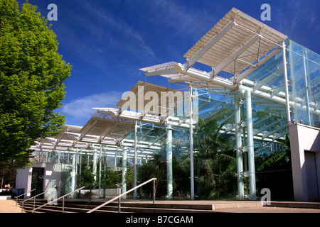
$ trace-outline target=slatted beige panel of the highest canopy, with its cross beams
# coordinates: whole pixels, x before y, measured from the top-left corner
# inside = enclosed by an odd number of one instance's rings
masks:
[[[214,67],[214,74],[238,74],[285,39],[287,35],[233,8],[183,57],[188,67],[201,62]]]

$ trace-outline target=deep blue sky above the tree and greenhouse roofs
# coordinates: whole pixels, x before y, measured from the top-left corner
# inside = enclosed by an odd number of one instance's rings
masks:
[[[19,0],[19,3],[24,1]],[[29,0],[47,17],[58,7],[58,52],[73,65],[65,81],[65,123],[84,126],[95,111],[114,107],[138,80],[168,86],[162,77],[144,77],[139,68],[183,57],[233,7],[261,21],[270,4],[271,21],[262,21],[320,54],[319,0]]]

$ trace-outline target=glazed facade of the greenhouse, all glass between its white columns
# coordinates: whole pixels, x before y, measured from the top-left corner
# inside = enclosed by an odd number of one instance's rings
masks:
[[[320,55],[292,40],[287,45],[287,72],[289,100],[293,122],[320,127]],[[255,152],[257,192],[267,187],[277,195],[290,186],[291,163],[289,131],[285,106],[284,68],[282,51],[270,58],[242,79],[238,91],[224,88],[201,88],[193,84],[193,129],[195,196],[200,199],[235,199],[238,194],[237,153],[241,150],[244,192],[249,193],[247,150],[249,133],[247,121],[252,121],[252,139]],[[197,88],[196,88],[197,87]],[[243,89],[245,87],[245,89]],[[252,119],[247,119],[245,91],[250,90]],[[248,99],[248,97],[247,97]],[[240,121],[235,122],[235,104],[239,104]],[[183,109],[183,111],[181,111]],[[239,110],[239,109],[238,109]],[[177,111],[183,112],[179,116]],[[188,128],[189,104],[179,106],[172,126],[172,166],[174,199],[190,198],[190,135]],[[178,118],[178,119],[177,119]],[[172,118],[173,119],[173,118]],[[177,123],[186,123],[176,127]],[[240,128],[241,147],[236,148],[236,126]],[[137,182],[156,177],[156,196],[167,196],[166,125],[137,123]],[[237,131],[238,132],[238,131]],[[239,135],[239,134],[238,134]],[[250,135],[251,137],[251,135]],[[239,138],[239,136],[238,136]],[[238,140],[239,142],[239,140]],[[69,149],[69,148],[68,148]],[[101,188],[122,187],[122,151],[127,150],[127,189],[134,186],[134,131],[117,146],[102,145]],[[48,163],[62,164],[61,195],[77,187],[94,183],[99,185],[100,145],[78,149],[77,173],[75,148],[46,154]],[[277,165],[274,163],[277,162]],[[139,189],[139,198],[150,198],[151,184]],[[97,195],[97,194],[96,194]],[[105,192],[102,193],[105,196]],[[128,195],[130,198],[132,195]],[[284,198],[279,194],[279,199]],[[277,196],[274,197],[277,199]]]

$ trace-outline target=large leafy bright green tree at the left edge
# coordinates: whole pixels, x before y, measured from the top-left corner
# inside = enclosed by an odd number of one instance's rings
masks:
[[[36,138],[56,135],[71,67],[37,7],[0,0],[0,161],[28,160]],[[26,165],[26,162],[21,163]]]

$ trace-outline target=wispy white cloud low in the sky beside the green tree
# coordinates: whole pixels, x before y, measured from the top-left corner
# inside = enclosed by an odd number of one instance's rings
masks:
[[[80,97],[64,104],[61,108],[62,114],[74,118],[89,118],[95,113],[93,107],[116,107],[115,104],[122,98],[122,92],[103,92],[90,96]]]

